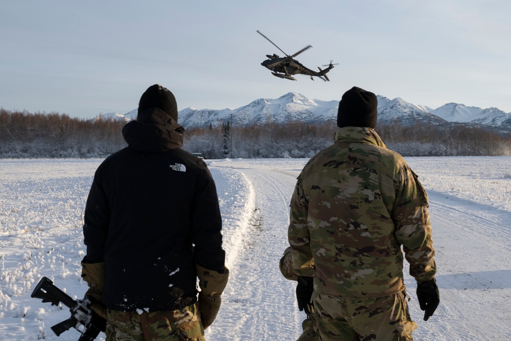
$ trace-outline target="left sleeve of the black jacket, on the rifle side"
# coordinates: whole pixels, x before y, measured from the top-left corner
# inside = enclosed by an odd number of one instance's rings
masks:
[[[102,167],[100,166],[92,180],[85,204],[83,237],[87,246],[86,259],[89,263],[103,261],[103,251],[110,222],[110,208],[101,178]]]

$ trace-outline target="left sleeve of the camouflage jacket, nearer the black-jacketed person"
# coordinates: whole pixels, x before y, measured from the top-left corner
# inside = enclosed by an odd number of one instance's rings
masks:
[[[305,170],[305,169],[304,169]],[[291,263],[298,276],[314,275],[308,228],[309,199],[306,193],[304,171],[298,176],[290,203],[288,241],[291,245]]]

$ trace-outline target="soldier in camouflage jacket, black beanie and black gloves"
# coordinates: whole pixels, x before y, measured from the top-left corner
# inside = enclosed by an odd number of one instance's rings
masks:
[[[401,247],[419,284],[421,309],[429,305],[425,320],[438,305],[428,197],[401,155],[387,149],[374,130],[376,108],[376,96],[361,88],[343,95],[335,144],[307,163],[290,204],[293,268],[298,276],[314,278],[323,340],[412,339],[416,324],[406,306]],[[423,284],[425,298],[419,294]],[[361,307],[369,306],[370,318],[362,317]],[[335,311],[321,311],[332,307],[340,315],[333,320],[341,322],[332,320]],[[354,312],[348,314],[350,307]],[[359,321],[352,321],[354,314]],[[387,327],[374,335],[361,331],[382,325],[383,315]]]

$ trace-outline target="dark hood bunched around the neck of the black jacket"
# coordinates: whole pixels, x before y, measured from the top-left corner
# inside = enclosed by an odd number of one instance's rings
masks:
[[[164,152],[183,145],[184,128],[158,108],[149,108],[136,121],[123,128],[124,140],[130,149]]]

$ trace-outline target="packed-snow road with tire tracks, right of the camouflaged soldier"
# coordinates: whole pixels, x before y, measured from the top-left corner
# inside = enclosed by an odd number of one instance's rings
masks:
[[[442,192],[428,191],[428,195],[440,305],[428,322],[422,321],[415,281],[405,273],[413,293],[410,314],[419,325],[415,338],[509,339],[511,231],[506,221],[511,221],[511,212]],[[488,257],[496,253],[499,257]]]

